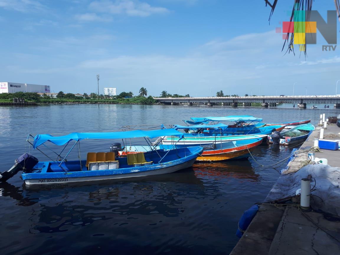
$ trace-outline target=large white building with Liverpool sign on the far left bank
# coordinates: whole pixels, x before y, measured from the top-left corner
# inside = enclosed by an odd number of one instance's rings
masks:
[[[28,83],[0,82],[0,93],[37,92],[51,93],[50,86]]]

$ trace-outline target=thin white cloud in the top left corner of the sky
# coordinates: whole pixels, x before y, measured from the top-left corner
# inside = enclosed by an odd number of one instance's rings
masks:
[[[46,8],[35,0],[0,0],[0,7],[18,12],[41,11]]]

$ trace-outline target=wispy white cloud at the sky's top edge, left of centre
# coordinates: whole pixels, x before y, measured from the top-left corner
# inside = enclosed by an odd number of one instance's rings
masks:
[[[89,9],[110,14],[126,14],[128,16],[147,17],[152,14],[167,13],[169,10],[164,7],[153,7],[148,3],[138,0],[116,0],[116,1],[94,1]]]

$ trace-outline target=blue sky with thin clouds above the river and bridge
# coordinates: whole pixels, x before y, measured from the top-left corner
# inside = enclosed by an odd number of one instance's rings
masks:
[[[0,0],[0,81],[90,94],[99,74],[101,94],[292,95],[295,83],[294,95],[334,95],[340,46],[322,51],[318,33],[306,57],[281,51],[293,2],[269,22],[263,0]],[[313,10],[327,21],[334,1]]]

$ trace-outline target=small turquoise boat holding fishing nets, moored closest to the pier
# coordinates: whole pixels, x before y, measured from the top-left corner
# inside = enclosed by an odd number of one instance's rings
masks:
[[[293,143],[301,142],[310,135],[315,127],[312,124],[303,124],[299,126],[295,126],[288,131],[284,131],[280,133],[279,144],[280,145],[290,145]],[[271,135],[268,136],[269,143],[273,143],[273,139]]]

